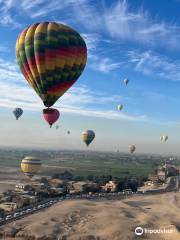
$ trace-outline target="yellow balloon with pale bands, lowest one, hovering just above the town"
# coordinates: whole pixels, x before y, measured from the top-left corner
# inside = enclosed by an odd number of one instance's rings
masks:
[[[36,157],[25,157],[21,162],[22,172],[32,178],[41,169],[41,160]]]

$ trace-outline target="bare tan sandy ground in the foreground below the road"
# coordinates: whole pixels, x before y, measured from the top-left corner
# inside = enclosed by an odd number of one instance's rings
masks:
[[[136,196],[121,201],[68,200],[0,227],[18,240],[177,240],[180,239],[180,192]],[[169,233],[136,236],[137,226]],[[13,240],[14,238],[2,237]]]

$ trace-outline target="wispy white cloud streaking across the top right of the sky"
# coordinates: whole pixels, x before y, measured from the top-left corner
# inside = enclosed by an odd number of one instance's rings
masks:
[[[112,39],[180,49],[179,25],[157,20],[142,7],[132,10],[129,5],[125,0],[108,3],[108,6],[84,1],[74,5],[74,17],[86,29]]]

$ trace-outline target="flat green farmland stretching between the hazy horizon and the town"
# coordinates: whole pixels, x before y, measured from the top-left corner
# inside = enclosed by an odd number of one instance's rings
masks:
[[[54,166],[53,173],[68,170],[75,176],[112,175],[113,177],[146,177],[153,174],[164,157],[153,155],[130,155],[113,152],[83,151],[35,151],[1,149],[0,165],[18,167],[24,156],[37,156],[42,163]],[[176,162],[179,160],[176,159]],[[56,170],[56,166],[58,166]],[[59,167],[62,167],[59,168]]]

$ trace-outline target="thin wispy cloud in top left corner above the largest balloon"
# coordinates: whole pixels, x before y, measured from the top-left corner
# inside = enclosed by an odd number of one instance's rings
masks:
[[[48,0],[6,0],[0,1],[0,24],[3,26],[12,26],[21,28],[21,21],[17,17],[29,16],[31,19],[45,17],[48,14],[58,13],[58,11],[72,8],[73,5],[83,3],[85,0],[66,0],[66,1],[48,1]],[[50,17],[51,19],[53,16]]]

